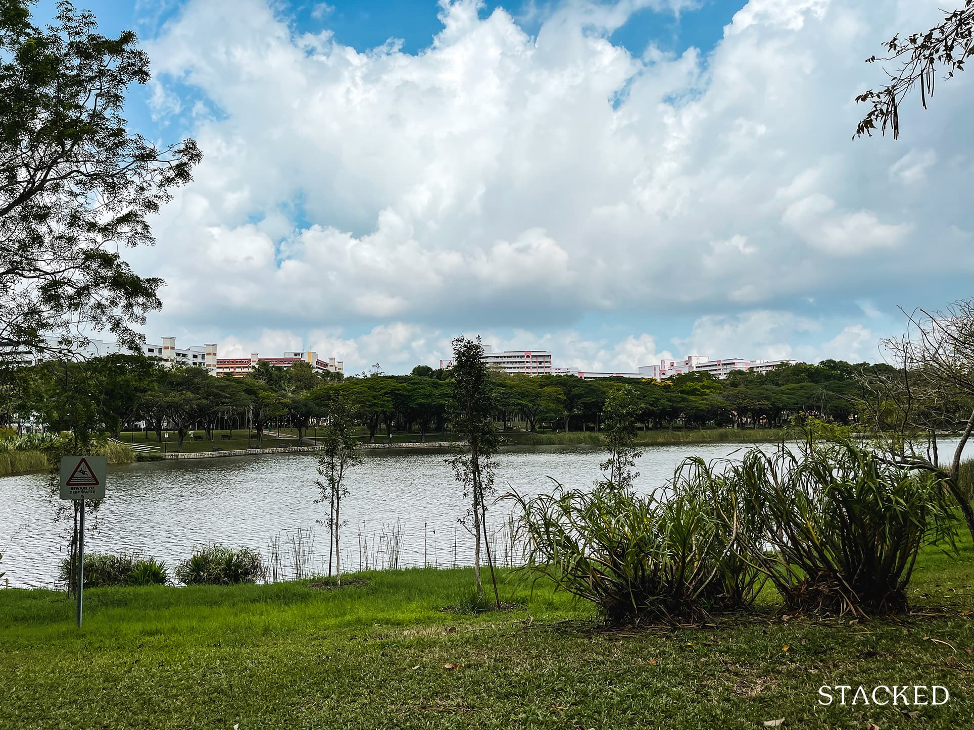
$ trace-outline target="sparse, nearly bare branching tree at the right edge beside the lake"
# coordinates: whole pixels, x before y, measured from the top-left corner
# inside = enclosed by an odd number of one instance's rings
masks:
[[[864,377],[861,405],[886,456],[941,477],[974,537],[974,504],[960,484],[960,460],[974,433],[974,299],[945,311],[916,310],[908,320],[902,339],[883,343],[898,372]],[[948,459],[937,448],[937,431],[945,428],[960,432]]]

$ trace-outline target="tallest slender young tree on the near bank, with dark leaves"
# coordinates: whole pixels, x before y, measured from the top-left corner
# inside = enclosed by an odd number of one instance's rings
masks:
[[[464,496],[472,497],[468,512],[473,522],[473,577],[477,601],[483,602],[484,588],[480,578],[481,532],[487,552],[487,565],[494,582],[494,599],[501,607],[497,590],[497,576],[490,555],[487,539],[487,505],[485,497],[494,490],[494,473],[497,462],[494,456],[500,447],[497,429],[494,428],[494,378],[483,361],[480,338],[476,342],[464,337],[453,341],[453,368],[450,370],[451,417],[458,442],[455,456],[446,463],[453,467],[458,482],[464,485]]]

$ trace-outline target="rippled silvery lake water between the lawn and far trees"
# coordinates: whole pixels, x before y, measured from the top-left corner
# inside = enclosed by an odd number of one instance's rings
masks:
[[[652,492],[673,475],[686,456],[709,460],[729,456],[739,444],[681,444],[648,447],[639,459],[636,487]],[[942,445],[946,450],[949,442]],[[746,448],[746,447],[743,447]],[[942,452],[944,453],[944,452]],[[468,500],[444,463],[443,450],[414,453],[366,451],[348,479],[342,511],[343,569],[387,566],[468,565],[472,537],[458,518]],[[599,476],[604,452],[590,447],[536,447],[498,456],[497,493],[548,492],[547,479],[586,488]],[[232,456],[152,461],[109,467],[107,498],[89,530],[86,552],[135,551],[175,566],[195,545],[221,542],[246,546],[267,558],[281,538],[281,564],[293,571],[289,545],[297,530],[313,530],[311,564],[327,566],[328,531],[316,521],[327,505],[315,504],[316,460],[309,455]],[[0,571],[12,586],[53,586],[64,557],[66,523],[55,523],[47,475],[0,478]],[[511,559],[505,522],[511,506],[490,512],[496,559]],[[399,549],[390,542],[398,534]]]

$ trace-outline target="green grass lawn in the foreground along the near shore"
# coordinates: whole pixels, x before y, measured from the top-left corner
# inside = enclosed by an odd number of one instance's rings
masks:
[[[86,593],[0,590],[3,728],[969,728],[974,551],[927,552],[918,614],[721,617],[602,631],[586,604],[503,573],[515,611],[457,615],[469,569]],[[450,665],[451,668],[447,668]],[[453,669],[452,666],[456,665]],[[823,685],[940,684],[941,707],[823,707]],[[901,710],[918,712],[916,717]]]

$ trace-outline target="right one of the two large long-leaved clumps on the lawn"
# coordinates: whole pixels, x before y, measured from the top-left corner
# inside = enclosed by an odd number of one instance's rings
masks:
[[[711,476],[739,495],[751,529],[736,553],[790,609],[880,615],[906,608],[919,549],[955,548],[949,494],[933,474],[848,440],[749,451]]]

